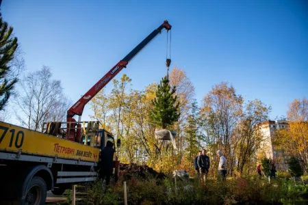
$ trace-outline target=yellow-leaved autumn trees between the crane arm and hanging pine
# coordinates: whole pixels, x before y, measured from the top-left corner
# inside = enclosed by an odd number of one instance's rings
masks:
[[[155,139],[155,125],[150,123],[157,84],[151,83],[144,90],[132,90],[131,79],[126,74],[113,84],[110,94],[102,93],[92,99],[91,107],[92,118],[101,122],[105,118],[109,130],[121,138],[120,161],[147,164],[164,172],[174,170],[175,156]]]

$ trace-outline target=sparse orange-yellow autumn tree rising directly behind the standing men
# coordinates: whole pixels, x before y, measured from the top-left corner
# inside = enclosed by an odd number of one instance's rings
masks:
[[[234,144],[231,143],[231,136],[235,124],[242,118],[242,96],[236,94],[235,88],[222,82],[214,85],[211,91],[203,98],[201,111],[203,124],[205,124],[205,135],[211,138],[211,143],[220,148],[227,160],[229,174],[233,172],[234,165]],[[215,149],[213,147],[213,149]],[[212,150],[214,152],[214,150]]]

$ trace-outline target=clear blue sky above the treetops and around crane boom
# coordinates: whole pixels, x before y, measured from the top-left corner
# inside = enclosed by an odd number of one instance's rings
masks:
[[[294,98],[308,97],[304,0],[3,0],[1,11],[14,26],[27,71],[51,67],[73,103],[164,20],[172,25],[172,67],[185,70],[198,102],[229,81],[246,100],[271,105],[274,120]],[[166,31],[116,79],[125,73],[142,90],[166,74],[165,60]],[[87,106],[82,119],[90,113]]]

